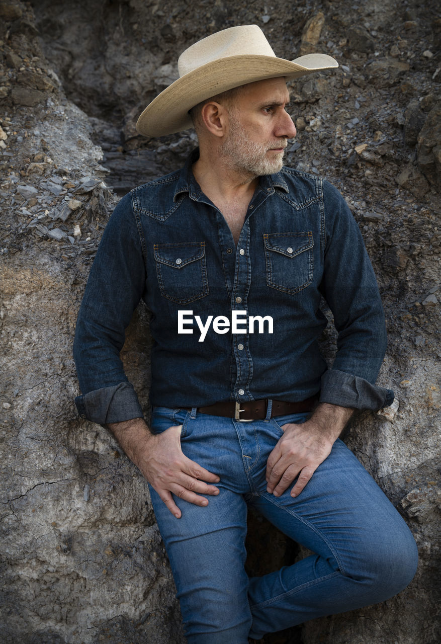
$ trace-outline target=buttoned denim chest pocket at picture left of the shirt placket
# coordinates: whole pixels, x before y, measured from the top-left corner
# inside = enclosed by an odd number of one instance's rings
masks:
[[[189,304],[209,294],[205,242],[155,244],[153,253],[164,298]]]

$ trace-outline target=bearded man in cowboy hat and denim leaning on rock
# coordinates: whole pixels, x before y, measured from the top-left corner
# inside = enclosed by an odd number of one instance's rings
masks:
[[[189,644],[243,644],[393,596],[417,551],[338,439],[354,409],[393,400],[374,384],[384,316],[358,227],[330,184],[282,167],[296,135],[286,80],[337,63],[278,59],[254,25],[179,62],[137,126],[193,122],[199,150],[109,220],[77,325],[77,406],[149,482]],[[317,348],[322,296],[339,332],[332,369]],[[151,430],[118,357],[140,298],[153,314]],[[249,579],[247,504],[314,554]]]

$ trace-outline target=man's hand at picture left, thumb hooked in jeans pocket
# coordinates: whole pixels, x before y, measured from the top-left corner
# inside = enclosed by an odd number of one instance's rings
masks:
[[[127,423],[115,423],[109,428],[171,513],[176,518],[182,516],[172,493],[196,506],[207,506],[208,500],[200,495],[218,495],[219,489],[205,481],[218,483],[220,478],[183,454],[180,444],[182,425],[169,427],[155,435],[142,419],[135,421],[127,421],[131,423],[129,431],[127,427],[126,430],[120,427]]]

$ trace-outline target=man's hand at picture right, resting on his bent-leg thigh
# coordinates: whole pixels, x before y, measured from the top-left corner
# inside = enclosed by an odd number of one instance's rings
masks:
[[[267,460],[267,492],[279,497],[297,477],[291,496],[297,497],[332,450],[352,410],[323,403],[302,423],[282,426],[283,436]]]

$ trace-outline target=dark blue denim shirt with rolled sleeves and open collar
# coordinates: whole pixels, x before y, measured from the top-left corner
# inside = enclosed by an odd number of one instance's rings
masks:
[[[192,175],[195,158],[133,189],[109,219],[75,334],[80,415],[100,424],[142,417],[119,357],[141,298],[152,313],[154,405],[319,392],[344,407],[391,404],[393,392],[375,386],[386,350],[382,304],[341,194],[287,167],[262,176],[236,247]],[[332,369],[317,345],[322,296],[338,331]]]

